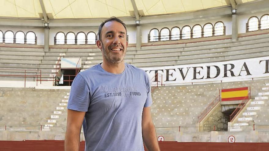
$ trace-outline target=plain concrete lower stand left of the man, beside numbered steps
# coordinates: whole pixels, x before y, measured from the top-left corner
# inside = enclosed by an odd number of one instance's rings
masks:
[[[20,126],[22,130],[30,130],[31,126],[44,126],[48,124],[48,120],[52,120],[51,115],[69,91],[0,88],[0,125]],[[66,106],[61,111],[65,112]],[[55,115],[61,116],[61,114]],[[59,125],[66,125],[66,114],[62,117]]]

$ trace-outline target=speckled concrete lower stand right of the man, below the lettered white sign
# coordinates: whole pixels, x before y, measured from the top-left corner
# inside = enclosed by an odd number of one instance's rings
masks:
[[[159,87],[152,93],[153,122],[156,127],[195,127],[197,117],[219,95],[219,89],[250,86],[254,98],[264,81],[269,79]]]

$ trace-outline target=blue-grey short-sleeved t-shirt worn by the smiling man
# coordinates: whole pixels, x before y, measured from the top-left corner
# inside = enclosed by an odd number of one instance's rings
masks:
[[[125,63],[121,74],[100,64],[74,79],[68,109],[86,112],[83,131],[86,151],[143,151],[142,111],[152,105],[149,78]]]

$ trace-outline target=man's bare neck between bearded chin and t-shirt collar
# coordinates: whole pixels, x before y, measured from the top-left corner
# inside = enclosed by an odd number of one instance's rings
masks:
[[[125,69],[125,63],[124,60],[121,63],[107,63],[105,60],[103,60],[103,63],[101,64],[101,67],[112,74],[121,74]]]

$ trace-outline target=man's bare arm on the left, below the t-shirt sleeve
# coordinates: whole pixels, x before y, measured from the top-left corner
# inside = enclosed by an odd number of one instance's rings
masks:
[[[80,132],[85,112],[67,110],[67,126],[64,141],[65,151],[79,151]]]

